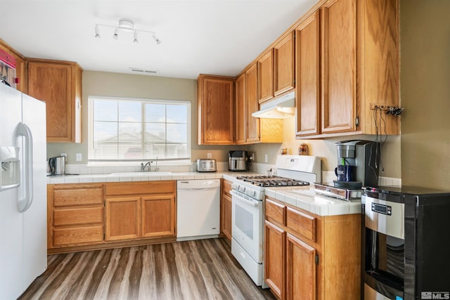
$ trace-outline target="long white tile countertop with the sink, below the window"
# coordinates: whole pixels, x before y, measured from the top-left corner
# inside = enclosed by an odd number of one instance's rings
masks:
[[[168,174],[170,173],[170,174]],[[160,180],[193,180],[193,179],[219,179],[225,178],[233,181],[240,175],[257,174],[253,172],[148,172],[143,175],[140,172],[118,173],[118,174],[81,174],[81,175],[63,175],[47,176],[47,184],[60,183],[104,183],[120,181],[160,181]]]

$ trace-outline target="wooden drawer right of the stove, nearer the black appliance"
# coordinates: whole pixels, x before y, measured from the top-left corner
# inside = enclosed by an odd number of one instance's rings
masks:
[[[316,221],[314,216],[303,214],[290,207],[288,207],[286,212],[286,226],[288,229],[313,242],[316,242]]]

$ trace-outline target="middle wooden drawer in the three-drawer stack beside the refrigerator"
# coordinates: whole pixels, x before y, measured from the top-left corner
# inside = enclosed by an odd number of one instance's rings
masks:
[[[83,209],[55,209],[53,226],[85,225],[103,223],[103,207]]]

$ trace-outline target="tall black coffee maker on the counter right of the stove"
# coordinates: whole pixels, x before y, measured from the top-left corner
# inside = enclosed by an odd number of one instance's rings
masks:
[[[380,167],[380,143],[364,140],[340,141],[338,147],[338,180],[335,187],[359,189],[377,186]]]

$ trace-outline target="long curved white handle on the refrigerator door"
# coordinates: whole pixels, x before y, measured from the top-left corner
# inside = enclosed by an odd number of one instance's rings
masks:
[[[25,178],[25,196],[18,200],[20,212],[26,211],[33,202],[33,136],[30,128],[20,122],[16,129],[17,136],[25,136],[25,162],[23,163]]]

